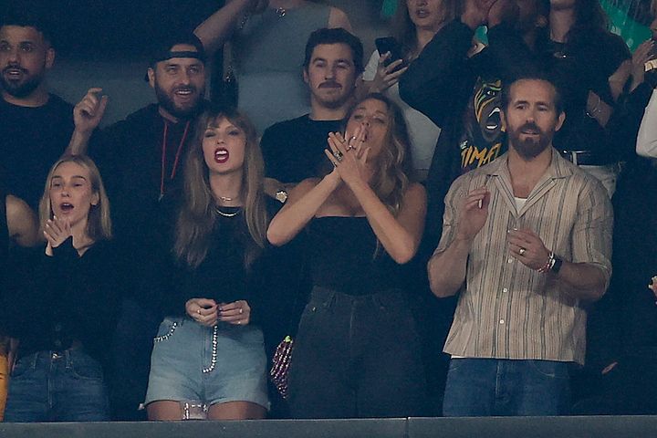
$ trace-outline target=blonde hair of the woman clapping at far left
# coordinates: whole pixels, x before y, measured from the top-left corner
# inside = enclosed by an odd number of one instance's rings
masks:
[[[74,162],[78,164],[78,166],[87,170],[87,172],[89,172],[89,178],[91,179],[89,182],[91,183],[91,190],[93,193],[98,193],[99,195],[99,203],[91,205],[91,208],[89,209],[89,217],[87,218],[87,235],[94,242],[110,240],[112,236],[110,200],[108,199],[105,185],[102,183],[102,178],[100,177],[100,172],[98,167],[96,167],[96,163],[86,155],[65,155],[57,160],[57,162],[55,162],[50,168],[50,172],[48,172],[46,179],[44,194],[39,203],[39,223],[41,233],[43,233],[43,227],[46,225],[47,220],[52,219],[53,217],[52,203],[50,203],[51,180],[55,171],[57,171],[57,167],[65,162]]]

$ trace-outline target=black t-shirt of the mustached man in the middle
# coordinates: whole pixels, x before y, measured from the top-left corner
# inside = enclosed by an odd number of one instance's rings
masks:
[[[270,126],[260,141],[266,176],[281,183],[300,183],[322,174],[330,164],[324,154],[328,133],[341,126],[342,120],[311,120],[308,114]]]

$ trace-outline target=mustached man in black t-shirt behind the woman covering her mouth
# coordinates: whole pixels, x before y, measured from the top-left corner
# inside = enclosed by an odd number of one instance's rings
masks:
[[[303,78],[310,92],[310,113],[267,128],[260,143],[266,176],[282,183],[279,188],[317,176],[318,168],[327,163],[328,132],[340,130],[353,103],[362,57],[359,38],[343,28],[318,29],[308,38]]]

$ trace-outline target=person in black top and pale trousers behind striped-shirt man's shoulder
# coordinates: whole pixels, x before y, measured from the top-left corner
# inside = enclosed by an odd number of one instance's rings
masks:
[[[547,54],[566,111],[554,145],[611,197],[622,148],[610,141],[606,127],[631,74],[631,54],[608,21],[598,0],[550,0]]]

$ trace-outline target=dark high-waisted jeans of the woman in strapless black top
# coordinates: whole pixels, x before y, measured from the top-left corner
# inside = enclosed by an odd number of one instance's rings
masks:
[[[424,413],[426,379],[407,297],[313,289],[289,369],[294,418]]]

